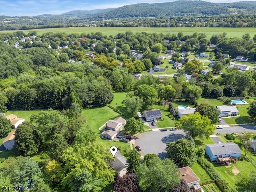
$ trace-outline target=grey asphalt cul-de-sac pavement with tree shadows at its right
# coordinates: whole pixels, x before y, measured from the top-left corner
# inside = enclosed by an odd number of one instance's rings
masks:
[[[141,148],[140,154],[145,156],[146,154],[157,154],[159,158],[164,159],[168,157],[165,150],[168,142],[176,141],[186,134],[183,130],[176,131],[150,131],[143,133],[139,136],[139,139],[135,141],[135,146],[138,145]]]

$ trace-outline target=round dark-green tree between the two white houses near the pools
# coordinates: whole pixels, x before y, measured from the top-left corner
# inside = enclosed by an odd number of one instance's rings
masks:
[[[200,104],[196,108],[196,112],[199,112],[202,116],[206,116],[211,120],[212,124],[215,124],[219,119],[219,113],[216,107],[209,105],[209,104]]]

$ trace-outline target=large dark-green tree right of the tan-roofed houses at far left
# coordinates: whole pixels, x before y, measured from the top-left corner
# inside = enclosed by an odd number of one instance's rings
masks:
[[[14,150],[17,154],[30,156],[38,152],[40,137],[38,131],[30,122],[24,122],[15,132]]]

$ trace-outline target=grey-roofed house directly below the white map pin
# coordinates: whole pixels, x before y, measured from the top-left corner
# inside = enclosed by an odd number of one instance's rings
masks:
[[[115,161],[109,162],[110,166],[116,171],[118,176],[123,177],[126,174],[126,168],[128,166],[126,158],[117,150],[115,155]]]

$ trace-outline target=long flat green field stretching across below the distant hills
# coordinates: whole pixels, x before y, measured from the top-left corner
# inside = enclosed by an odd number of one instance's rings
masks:
[[[126,31],[136,32],[147,32],[147,33],[166,33],[167,28],[145,28],[145,27],[68,27],[68,28],[47,28],[47,29],[33,29],[33,30],[23,30],[24,33],[36,31],[38,35],[41,35],[46,32],[65,32],[67,34],[71,33],[91,33],[91,32],[102,32],[104,35],[115,35],[118,33],[124,33]],[[0,33],[10,33],[14,31],[1,31]],[[256,34],[255,28],[214,28],[214,27],[199,27],[199,28],[189,28],[189,27],[176,27],[170,28],[170,33],[178,34],[178,32],[183,32],[184,35],[191,35],[194,32],[205,33],[207,38],[213,34],[219,34],[226,32],[227,37],[242,37],[245,33],[250,33],[251,37]]]

